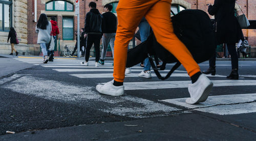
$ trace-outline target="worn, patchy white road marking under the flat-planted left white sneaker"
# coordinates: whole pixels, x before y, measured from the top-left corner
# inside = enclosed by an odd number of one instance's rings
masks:
[[[96,110],[134,118],[151,117],[152,115],[150,115],[150,113],[152,112],[181,110],[132,96],[115,97],[113,99],[113,97],[110,96],[99,95],[98,92],[94,91],[94,87],[72,85],[66,82],[47,80],[33,76],[23,76],[1,87],[24,93],[25,95],[32,95],[57,102],[87,103],[87,106],[98,102],[100,106],[96,107]],[[104,103],[104,106],[101,105],[102,103]],[[137,116],[138,114],[145,115]]]

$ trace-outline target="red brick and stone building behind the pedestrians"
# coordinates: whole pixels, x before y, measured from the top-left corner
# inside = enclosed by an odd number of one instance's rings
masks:
[[[112,4],[116,12],[118,0],[79,0],[80,1],[80,28],[84,27],[84,18],[90,11],[89,3],[96,2],[97,8],[102,13],[103,5]],[[239,0],[236,10],[241,14],[242,8],[249,20],[256,20],[256,1]],[[20,43],[16,49],[25,55],[39,55],[40,47],[36,43],[36,21],[41,13],[57,18],[60,34],[56,51],[63,51],[65,44],[74,45],[77,30],[77,17],[75,16],[74,0],[0,0],[0,53],[9,54],[10,44],[7,43],[9,28],[13,26],[17,32]],[[206,4],[213,4],[214,0],[173,0],[172,10],[178,13],[184,9],[201,9],[207,11]],[[210,16],[210,18],[214,18]],[[256,30],[243,30],[244,36],[248,37],[249,43],[256,48]],[[254,51],[256,52],[256,51]],[[256,56],[256,54],[254,55]]]

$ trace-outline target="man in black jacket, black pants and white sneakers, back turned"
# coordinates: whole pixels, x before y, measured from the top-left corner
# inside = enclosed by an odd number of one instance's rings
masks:
[[[95,66],[99,66],[99,45],[100,39],[102,36],[101,24],[102,24],[102,15],[99,13],[99,10],[96,9],[96,3],[91,2],[89,4],[90,12],[86,14],[85,27],[84,27],[84,38],[87,38],[86,44],[86,61],[81,62],[82,65],[88,65],[90,50],[94,44],[95,48]]]

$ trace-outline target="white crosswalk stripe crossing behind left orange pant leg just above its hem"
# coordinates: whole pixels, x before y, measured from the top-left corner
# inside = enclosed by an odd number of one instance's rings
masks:
[[[157,77],[156,74],[151,74],[152,77]],[[167,74],[161,74],[162,76],[166,76]],[[78,78],[113,78],[113,74],[72,74],[71,76]],[[207,77],[226,77],[220,75],[206,75]],[[137,74],[127,74],[125,77],[139,77]],[[189,77],[187,74],[172,74],[170,77]]]

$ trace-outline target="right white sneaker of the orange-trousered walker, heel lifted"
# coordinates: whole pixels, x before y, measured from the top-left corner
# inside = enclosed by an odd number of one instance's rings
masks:
[[[200,75],[195,83],[188,84],[190,98],[186,99],[186,103],[197,104],[206,101],[212,86],[214,84],[204,74]]]

